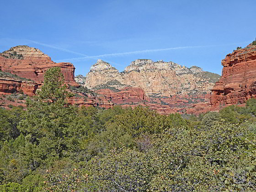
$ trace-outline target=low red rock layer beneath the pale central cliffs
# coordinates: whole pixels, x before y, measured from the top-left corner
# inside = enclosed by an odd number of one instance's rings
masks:
[[[140,87],[126,87],[118,92],[110,89],[101,89],[95,92],[106,96],[115,105],[120,105],[123,108],[141,105],[165,115],[175,112],[198,114],[210,110],[209,94],[153,98],[146,96]]]

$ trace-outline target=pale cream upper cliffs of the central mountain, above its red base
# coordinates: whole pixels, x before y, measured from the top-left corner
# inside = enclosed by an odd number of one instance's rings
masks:
[[[178,94],[209,93],[219,75],[192,66],[187,68],[173,62],[137,59],[119,73],[107,62],[98,60],[86,75],[89,89],[105,87],[140,87],[147,96],[173,96]],[[107,85],[107,86],[106,86]]]

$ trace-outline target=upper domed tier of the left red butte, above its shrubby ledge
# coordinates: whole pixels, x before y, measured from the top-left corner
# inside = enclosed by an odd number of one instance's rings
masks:
[[[0,69],[20,77],[43,82],[44,72],[58,66],[67,84],[79,86],[74,80],[75,67],[71,63],[55,63],[37,48],[20,45],[0,53]]]

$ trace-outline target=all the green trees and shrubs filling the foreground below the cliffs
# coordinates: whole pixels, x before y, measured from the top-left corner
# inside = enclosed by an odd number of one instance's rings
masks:
[[[1,192],[256,191],[256,99],[196,117],[68,105],[59,68],[0,108]]]

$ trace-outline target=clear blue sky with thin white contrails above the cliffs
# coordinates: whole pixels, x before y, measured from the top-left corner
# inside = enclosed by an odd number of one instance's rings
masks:
[[[97,59],[119,71],[162,59],[221,75],[221,59],[255,40],[255,9],[256,0],[5,0],[0,52],[39,48],[75,75]]]

